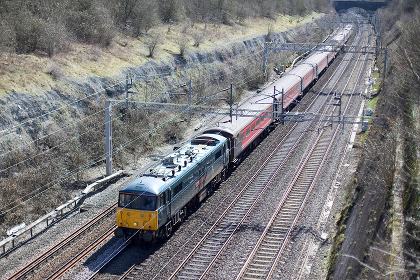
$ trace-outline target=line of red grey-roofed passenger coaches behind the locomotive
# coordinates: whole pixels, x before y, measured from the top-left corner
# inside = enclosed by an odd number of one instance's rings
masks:
[[[337,32],[330,40],[330,44],[342,45],[351,33],[351,26],[346,26],[343,32]],[[258,111],[253,116],[236,117],[231,119],[225,116],[213,126],[204,130],[204,133],[220,134],[228,139],[229,162],[241,156],[242,151],[257,143],[258,136],[267,131],[272,120],[273,97],[281,100],[283,90],[283,108],[290,110],[297,102],[297,97],[306,92],[316,78],[326,69],[335,57],[335,49],[316,51],[310,54],[302,63],[287,71],[281,78],[267,86],[258,95],[242,103],[238,110]],[[275,87],[275,92],[274,92]],[[277,106],[277,105],[276,105]],[[263,111],[266,111],[262,113]],[[277,109],[276,111],[281,111]],[[269,118],[265,118],[269,116]]]

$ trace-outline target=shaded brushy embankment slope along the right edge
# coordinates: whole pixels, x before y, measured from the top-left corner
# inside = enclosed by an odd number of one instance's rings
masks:
[[[388,126],[369,130],[353,183],[347,186],[348,204],[337,222],[328,271],[337,279],[416,279],[420,269],[420,6],[416,0],[392,1],[378,14],[388,67],[383,69],[383,55],[376,58],[379,78],[384,70],[386,78],[380,82],[375,115]],[[399,214],[393,197],[399,187],[402,225],[393,222]],[[398,240],[393,233],[400,230],[394,226],[402,228],[403,244],[393,243]]]

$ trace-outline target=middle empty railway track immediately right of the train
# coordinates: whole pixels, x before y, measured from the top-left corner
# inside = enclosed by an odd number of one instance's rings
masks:
[[[348,61],[347,61],[348,62]],[[318,94],[318,97],[320,95]],[[318,112],[328,102],[328,94],[320,102],[315,98],[309,108],[316,107]],[[272,182],[288,156],[300,141],[310,122],[296,122],[283,140],[274,148],[266,161],[226,208],[220,218],[202,237],[169,279],[202,279],[232,238],[259,197]]]

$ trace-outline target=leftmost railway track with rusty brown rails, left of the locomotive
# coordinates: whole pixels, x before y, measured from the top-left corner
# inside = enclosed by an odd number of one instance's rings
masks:
[[[115,214],[115,207],[116,203],[109,206],[88,223],[79,227],[19,271],[15,272],[7,280],[29,278],[56,279],[64,274],[65,271],[70,269],[112,234],[112,229],[116,227],[112,219]],[[104,222],[104,220],[108,221],[108,223]],[[102,230],[94,230],[103,227],[105,228]],[[78,253],[74,253],[75,250]]]

